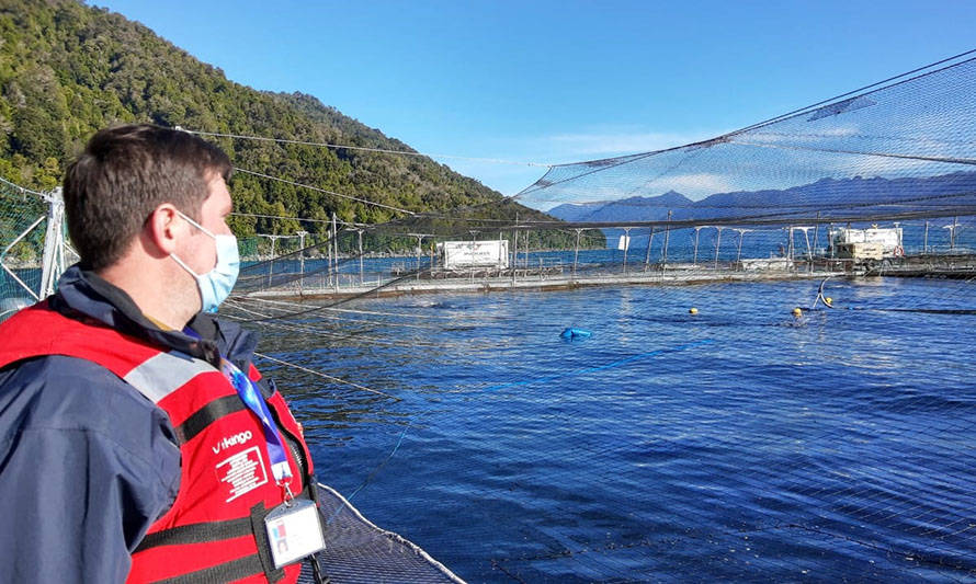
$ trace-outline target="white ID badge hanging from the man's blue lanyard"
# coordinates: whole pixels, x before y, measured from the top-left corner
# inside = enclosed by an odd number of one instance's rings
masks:
[[[275,570],[326,549],[318,508],[307,499],[279,505],[264,517]]]

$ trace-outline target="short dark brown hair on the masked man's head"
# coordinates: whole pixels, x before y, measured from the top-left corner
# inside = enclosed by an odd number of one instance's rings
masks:
[[[117,262],[159,205],[193,219],[211,173],[230,180],[230,159],[193,134],[138,124],[100,130],[65,173],[68,233],[90,270]]]

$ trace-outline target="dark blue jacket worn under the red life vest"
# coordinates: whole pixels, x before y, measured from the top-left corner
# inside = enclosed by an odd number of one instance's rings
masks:
[[[128,295],[78,266],[50,306],[211,362],[224,354],[243,370],[257,343],[209,314],[190,324],[202,340],[160,331]],[[167,414],[109,370],[54,355],[0,369],[0,581],[123,582],[179,483]]]

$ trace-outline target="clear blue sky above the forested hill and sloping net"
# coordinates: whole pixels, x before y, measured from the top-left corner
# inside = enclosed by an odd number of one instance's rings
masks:
[[[541,163],[710,138],[976,48],[969,1],[93,3],[422,152]],[[439,160],[506,195],[545,170]]]

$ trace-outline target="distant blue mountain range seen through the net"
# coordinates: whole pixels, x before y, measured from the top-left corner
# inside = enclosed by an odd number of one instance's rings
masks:
[[[565,221],[615,222],[708,220],[757,215],[821,217],[863,216],[878,213],[921,210],[933,206],[976,206],[976,172],[954,172],[939,176],[905,179],[821,179],[784,190],[717,193],[701,201],[669,191],[652,197],[634,196],[618,201],[564,204],[548,210]],[[969,211],[972,213],[972,210]],[[610,234],[610,230],[605,231]]]

